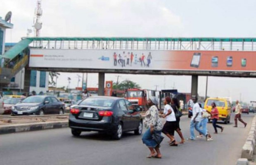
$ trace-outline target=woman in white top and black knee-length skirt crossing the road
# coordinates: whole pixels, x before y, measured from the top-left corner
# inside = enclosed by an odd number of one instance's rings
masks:
[[[163,118],[166,118],[162,132],[170,139],[170,146],[178,146],[178,143],[175,140],[174,132],[177,129],[177,121],[175,118],[175,113],[171,107],[171,97],[166,97],[164,100],[164,115]]]

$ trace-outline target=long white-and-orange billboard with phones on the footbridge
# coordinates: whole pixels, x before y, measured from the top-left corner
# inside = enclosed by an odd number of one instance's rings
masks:
[[[30,67],[256,72],[256,52],[31,49]]]

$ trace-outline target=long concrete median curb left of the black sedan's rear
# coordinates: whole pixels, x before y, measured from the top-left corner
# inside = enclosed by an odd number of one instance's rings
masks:
[[[9,133],[16,133],[16,132],[26,132],[26,131],[38,131],[38,130],[47,130],[47,129],[55,129],[55,128],[64,128],[64,127],[68,127],[68,126],[69,126],[68,121],[8,125],[8,126],[0,127],[0,134],[9,134]]]

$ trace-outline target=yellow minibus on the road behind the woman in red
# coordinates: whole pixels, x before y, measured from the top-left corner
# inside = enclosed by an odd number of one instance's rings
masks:
[[[228,99],[223,98],[208,98],[205,101],[204,109],[211,112],[211,104],[216,104],[216,108],[219,111],[219,120],[222,120],[225,124],[230,123],[231,104]]]

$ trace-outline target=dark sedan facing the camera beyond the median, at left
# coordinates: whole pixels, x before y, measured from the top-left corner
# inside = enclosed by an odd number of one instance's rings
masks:
[[[64,114],[65,105],[53,96],[31,96],[12,106],[12,115]]]

